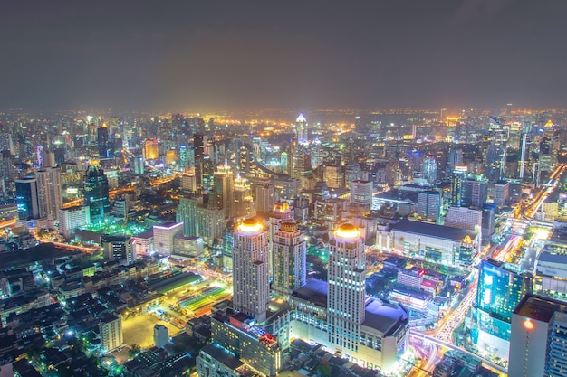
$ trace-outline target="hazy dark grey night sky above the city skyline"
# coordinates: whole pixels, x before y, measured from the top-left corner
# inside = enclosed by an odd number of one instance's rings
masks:
[[[567,108],[567,0],[0,0],[0,108]]]

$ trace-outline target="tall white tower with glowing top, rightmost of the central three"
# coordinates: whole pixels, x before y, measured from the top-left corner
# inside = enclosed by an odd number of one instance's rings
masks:
[[[335,352],[356,353],[365,319],[366,257],[363,237],[349,223],[342,224],[329,240],[328,281],[329,342]]]

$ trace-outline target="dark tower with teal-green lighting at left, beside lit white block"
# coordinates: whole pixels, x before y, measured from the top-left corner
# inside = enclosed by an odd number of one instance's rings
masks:
[[[88,166],[83,179],[82,194],[84,205],[91,213],[91,224],[108,221],[111,214],[109,181],[101,166]]]

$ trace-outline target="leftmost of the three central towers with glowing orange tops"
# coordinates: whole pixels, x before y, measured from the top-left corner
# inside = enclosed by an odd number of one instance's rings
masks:
[[[246,219],[233,242],[233,306],[264,322],[270,302],[267,231],[260,221]]]

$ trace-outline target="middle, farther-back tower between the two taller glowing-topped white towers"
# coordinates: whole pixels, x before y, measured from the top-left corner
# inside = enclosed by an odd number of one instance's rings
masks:
[[[295,221],[282,221],[272,240],[274,260],[274,292],[289,297],[293,290],[303,287],[306,278],[305,235]]]

